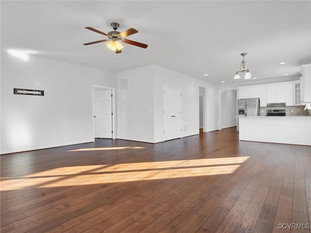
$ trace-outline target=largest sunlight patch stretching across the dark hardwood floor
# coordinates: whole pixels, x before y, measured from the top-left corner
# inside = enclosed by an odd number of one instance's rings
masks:
[[[1,190],[231,174],[249,157],[57,167],[21,177],[2,177]]]

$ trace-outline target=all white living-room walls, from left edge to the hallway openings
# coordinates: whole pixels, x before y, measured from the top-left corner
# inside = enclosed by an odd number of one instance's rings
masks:
[[[119,90],[122,77],[129,92]],[[216,129],[217,88],[202,80],[156,65],[113,74],[1,51],[1,154],[93,141],[92,85],[116,87],[117,138],[163,141],[163,85],[182,88],[183,136],[199,133],[199,86],[207,90],[207,131]],[[13,88],[44,96],[14,95]]]

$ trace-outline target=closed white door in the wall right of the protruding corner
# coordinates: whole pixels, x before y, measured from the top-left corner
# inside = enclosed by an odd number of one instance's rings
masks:
[[[181,89],[164,86],[164,141],[182,137]]]

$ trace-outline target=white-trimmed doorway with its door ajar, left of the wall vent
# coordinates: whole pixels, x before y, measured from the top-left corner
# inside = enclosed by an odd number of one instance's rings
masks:
[[[92,86],[93,136],[116,139],[116,89]]]

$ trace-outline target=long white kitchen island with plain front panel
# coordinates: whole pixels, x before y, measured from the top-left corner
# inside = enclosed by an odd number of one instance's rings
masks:
[[[311,146],[311,116],[239,116],[239,139]]]

